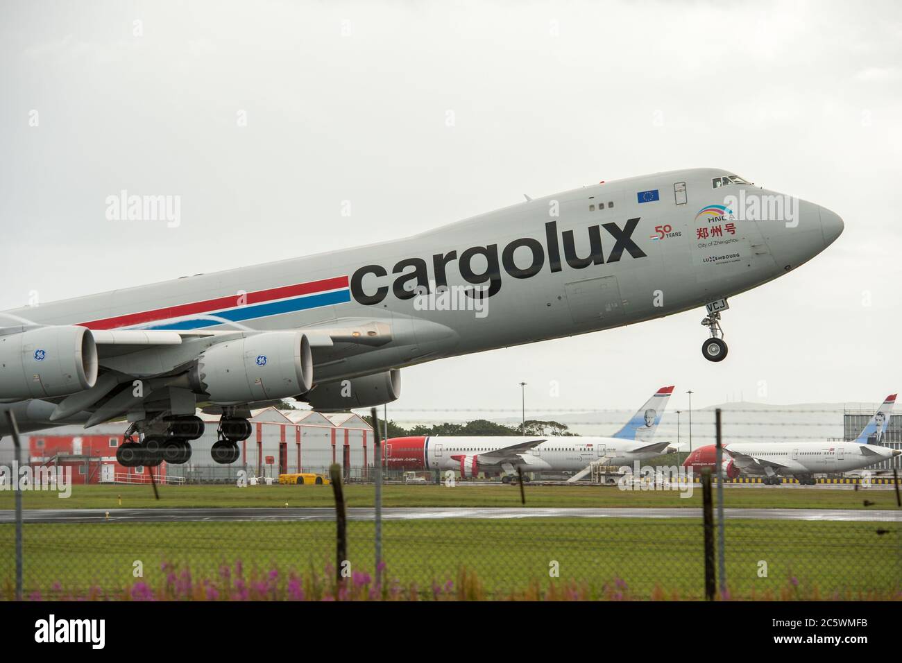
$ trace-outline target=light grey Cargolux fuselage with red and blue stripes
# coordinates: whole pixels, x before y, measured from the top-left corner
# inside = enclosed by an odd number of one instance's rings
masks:
[[[779,194],[728,176],[602,183],[397,241],[5,311],[0,326],[281,330],[364,319],[391,329],[379,347],[315,348],[314,381],[330,382],[699,307],[777,278],[842,232],[839,216],[805,201],[794,224],[755,218],[745,197]]]

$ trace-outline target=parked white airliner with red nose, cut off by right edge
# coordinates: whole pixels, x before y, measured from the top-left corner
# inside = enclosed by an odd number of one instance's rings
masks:
[[[813,474],[848,472],[874,465],[902,454],[898,449],[883,447],[889,415],[896,404],[896,394],[870,418],[861,434],[851,442],[730,442],[723,446],[723,475],[763,476],[764,483],[782,483],[781,476],[794,476],[799,483],[817,483]],[[717,465],[717,447],[707,445],[695,449],[683,464],[700,473]]]

